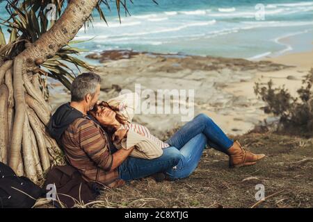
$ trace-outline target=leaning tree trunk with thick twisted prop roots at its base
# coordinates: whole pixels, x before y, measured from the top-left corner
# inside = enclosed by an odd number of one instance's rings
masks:
[[[49,31],[0,67],[0,126],[5,132],[0,134],[0,161],[8,162],[19,176],[38,182],[49,167],[64,164],[60,148],[45,130],[51,108],[38,80],[30,77],[38,75],[35,68],[74,38],[98,1],[69,1]]]

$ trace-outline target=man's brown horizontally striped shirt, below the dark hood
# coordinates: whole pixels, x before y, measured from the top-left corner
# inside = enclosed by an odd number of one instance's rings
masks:
[[[118,169],[111,171],[113,155],[102,128],[88,116],[76,119],[62,135],[61,143],[70,164],[87,181],[118,187]]]

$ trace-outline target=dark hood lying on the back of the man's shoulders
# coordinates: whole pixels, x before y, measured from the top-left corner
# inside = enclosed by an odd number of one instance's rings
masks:
[[[48,123],[49,134],[52,138],[56,139],[59,144],[61,136],[67,127],[70,126],[75,119],[80,117],[83,117],[83,113],[72,108],[70,103],[61,105],[56,112],[54,112]]]

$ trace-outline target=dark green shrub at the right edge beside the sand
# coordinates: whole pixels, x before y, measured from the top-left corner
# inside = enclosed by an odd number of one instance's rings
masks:
[[[270,80],[267,87],[261,87],[255,83],[255,94],[266,103],[264,112],[272,113],[280,117],[278,129],[289,133],[305,134],[313,133],[313,69],[303,79],[303,85],[297,90],[298,97],[289,94],[288,89],[282,87],[273,88]]]

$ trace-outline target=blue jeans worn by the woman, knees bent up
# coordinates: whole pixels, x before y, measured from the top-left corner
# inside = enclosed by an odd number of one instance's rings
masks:
[[[207,144],[223,153],[234,144],[206,114],[198,114],[166,142],[182,154],[177,166],[166,171],[172,180],[186,178],[195,170]]]

